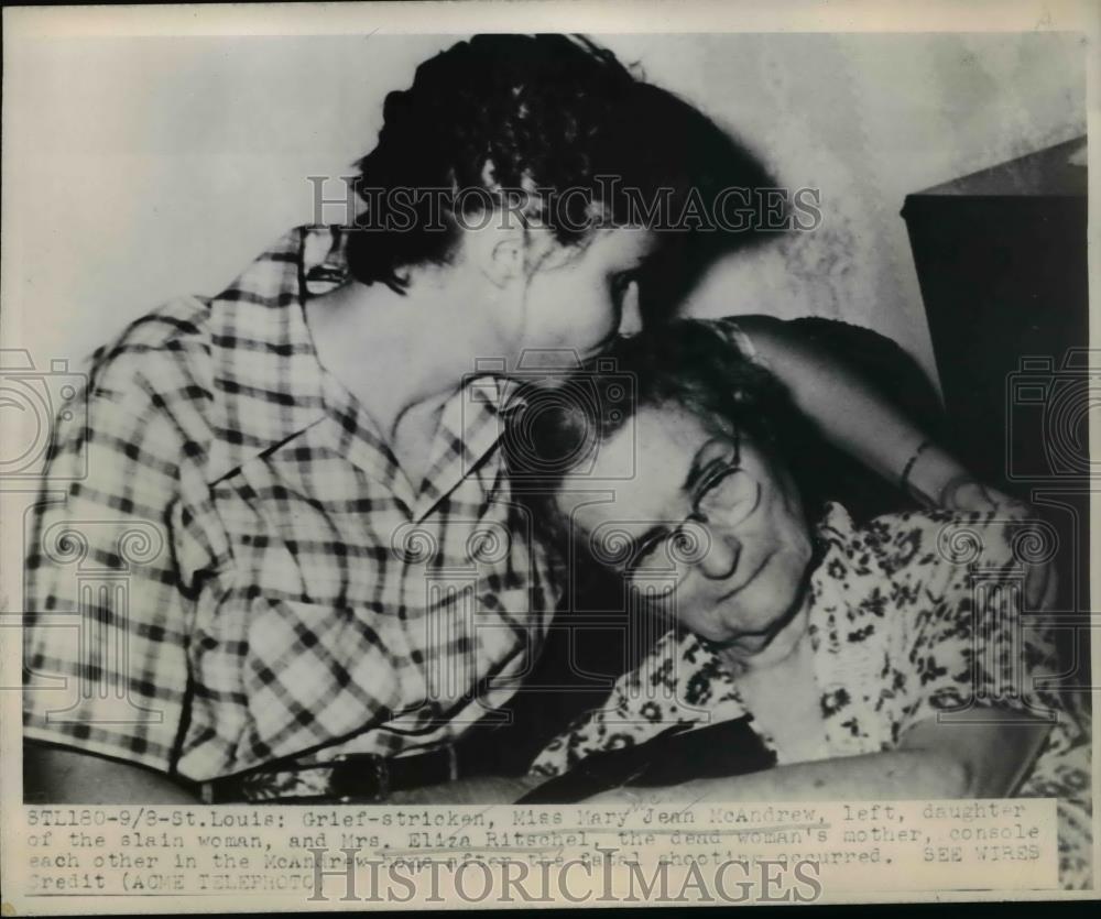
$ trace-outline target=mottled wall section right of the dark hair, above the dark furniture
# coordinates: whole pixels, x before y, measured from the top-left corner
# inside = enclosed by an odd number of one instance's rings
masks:
[[[674,44],[640,48],[654,78],[824,206],[816,232],[718,266],[696,311],[847,319],[930,372],[905,196],[1086,133],[1084,47],[1070,35],[716,35],[698,40],[690,73]]]

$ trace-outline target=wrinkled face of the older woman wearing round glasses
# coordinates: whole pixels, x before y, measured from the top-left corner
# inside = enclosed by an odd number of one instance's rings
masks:
[[[811,556],[803,507],[786,471],[744,437],[716,435],[679,406],[643,407],[633,435],[628,425],[601,445],[591,479],[614,499],[559,507],[651,609],[749,653],[795,611]]]

